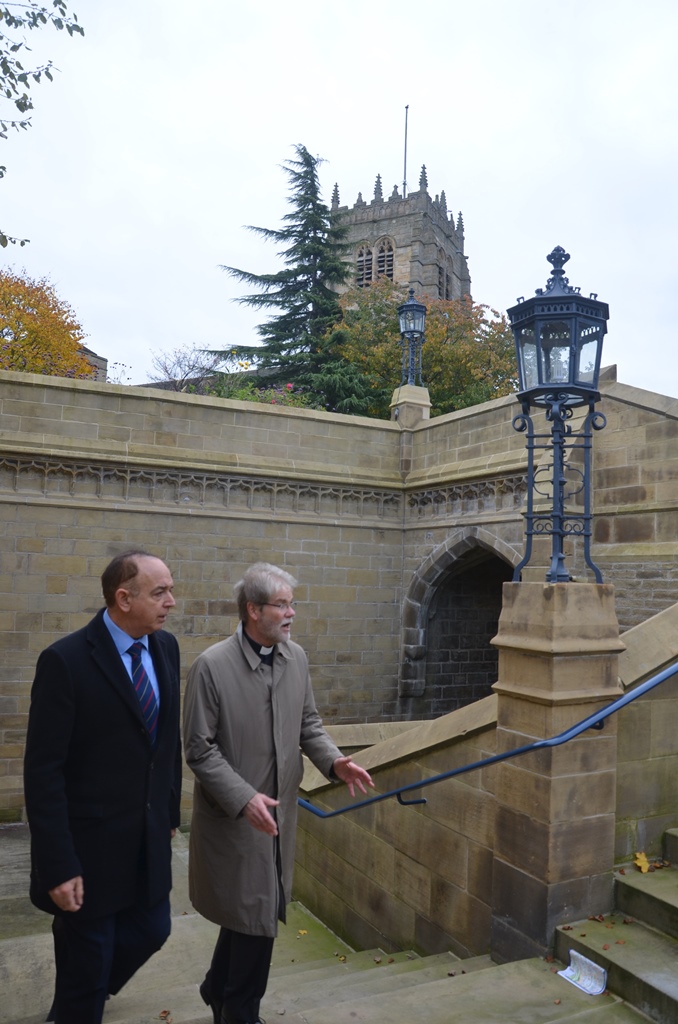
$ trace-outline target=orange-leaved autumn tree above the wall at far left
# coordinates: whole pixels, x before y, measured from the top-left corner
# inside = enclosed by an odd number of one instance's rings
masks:
[[[0,370],[48,377],[94,377],[82,327],[71,306],[43,278],[0,270]]]

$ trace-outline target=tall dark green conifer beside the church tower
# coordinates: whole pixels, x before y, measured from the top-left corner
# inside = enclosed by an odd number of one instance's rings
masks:
[[[284,268],[259,274],[222,266],[231,278],[258,289],[238,302],[280,312],[257,328],[262,345],[236,346],[218,354],[224,358],[234,353],[247,356],[262,371],[266,386],[292,381],[310,389],[324,404],[335,408],[337,387],[340,396],[345,397],[345,389],[350,391],[354,384],[351,373],[351,379],[347,379],[345,366],[337,373],[337,355],[324,341],[341,315],[334,288],[344,284],[352,272],[346,262],[346,229],[322,200],[317,169],[323,160],[311,156],[304,145],[294,148],[296,159],[283,165],[290,182],[292,208],[283,217],[283,226],[249,226],[249,230],[281,246],[279,255]]]

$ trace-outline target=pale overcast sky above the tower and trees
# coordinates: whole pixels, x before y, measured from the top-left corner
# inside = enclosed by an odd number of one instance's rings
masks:
[[[85,37],[29,42],[59,68],[2,143],[4,265],[48,275],[123,382],[152,352],[256,340],[219,269],[276,270],[244,229],[288,210],[301,142],[342,205],[377,173],[461,210],[473,298],[534,294],[562,245],[609,303],[603,364],[678,397],[675,0],[72,0]],[[5,110],[5,114],[8,112]],[[114,368],[115,372],[115,368]]]

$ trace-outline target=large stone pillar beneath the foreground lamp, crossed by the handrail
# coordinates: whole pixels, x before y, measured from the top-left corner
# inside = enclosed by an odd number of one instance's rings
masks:
[[[621,695],[615,593],[504,584],[497,752],[559,735]],[[497,768],[492,954],[543,956],[559,924],[612,904],[617,721]]]

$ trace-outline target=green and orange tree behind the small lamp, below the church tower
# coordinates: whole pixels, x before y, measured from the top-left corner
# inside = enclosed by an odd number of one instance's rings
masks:
[[[364,392],[338,412],[387,418],[400,383],[397,307],[407,293],[385,278],[352,288],[339,299],[342,318],[327,345],[359,371]],[[505,317],[471,300],[424,299],[428,308],[422,371],[431,416],[465,409],[515,390],[515,355]]]

